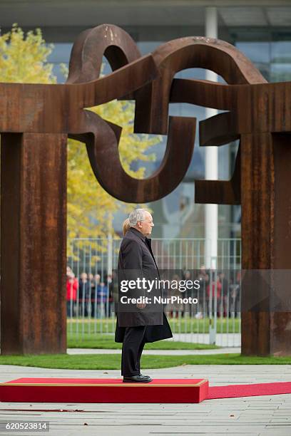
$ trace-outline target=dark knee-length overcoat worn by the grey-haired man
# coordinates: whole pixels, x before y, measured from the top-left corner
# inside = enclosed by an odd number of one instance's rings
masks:
[[[118,276],[128,274],[128,271],[146,279],[159,279],[158,266],[153,256],[150,239],[143,236],[137,229],[130,228],[123,237],[118,256]],[[120,289],[120,279],[119,292]],[[131,291],[135,295],[135,291]],[[136,296],[141,293],[136,291]],[[147,307],[148,308],[148,307]],[[147,309],[146,308],[146,309]],[[160,341],[172,338],[168,320],[163,313],[163,305],[150,310],[118,311],[116,320],[116,342],[123,342],[126,327],[147,326],[144,340],[146,342]]]

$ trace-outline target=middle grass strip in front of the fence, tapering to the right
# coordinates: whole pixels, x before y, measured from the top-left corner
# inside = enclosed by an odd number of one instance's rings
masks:
[[[68,335],[68,348],[108,348],[111,350],[121,350],[122,344],[114,342],[113,335],[102,335],[100,333],[84,333],[83,337],[73,333]],[[189,343],[180,341],[158,341],[147,343],[147,350],[213,350],[220,348],[204,343]]]

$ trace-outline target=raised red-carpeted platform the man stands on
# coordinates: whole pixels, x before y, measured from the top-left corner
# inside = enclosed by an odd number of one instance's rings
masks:
[[[206,379],[155,379],[123,383],[120,378],[17,378],[0,383],[6,403],[200,403]]]

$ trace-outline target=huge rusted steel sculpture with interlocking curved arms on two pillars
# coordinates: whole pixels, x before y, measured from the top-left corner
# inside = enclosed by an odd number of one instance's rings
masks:
[[[113,73],[99,78],[102,56]],[[213,70],[228,84],[174,78],[191,67]],[[168,117],[169,103],[228,110],[200,123],[200,145],[240,138],[233,177],[198,180],[195,200],[242,204],[243,269],[290,269],[290,91],[290,83],[266,83],[223,41],[180,38],[141,57],[131,37],[111,25],[81,33],[65,85],[1,83],[1,353],[66,352],[67,137],[86,143],[111,195],[154,201],[183,180],[193,154],[195,118]],[[145,180],[121,166],[121,128],[84,109],[114,98],[136,100],[136,133],[168,135],[160,168]],[[256,291],[242,289],[242,298]],[[242,352],[291,353],[290,312],[260,304],[243,306]]]

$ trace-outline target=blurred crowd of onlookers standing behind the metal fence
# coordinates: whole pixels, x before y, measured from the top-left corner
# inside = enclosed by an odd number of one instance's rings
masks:
[[[165,306],[172,318],[190,316],[203,318],[238,317],[240,315],[240,271],[211,271],[201,266],[199,270],[183,270],[172,274],[171,281],[198,280],[199,289],[171,291],[170,295],[192,297],[196,304],[173,302]],[[68,266],[66,271],[66,301],[68,317],[106,318],[116,314],[118,281],[116,271],[112,274],[88,274],[82,272],[76,277]]]

